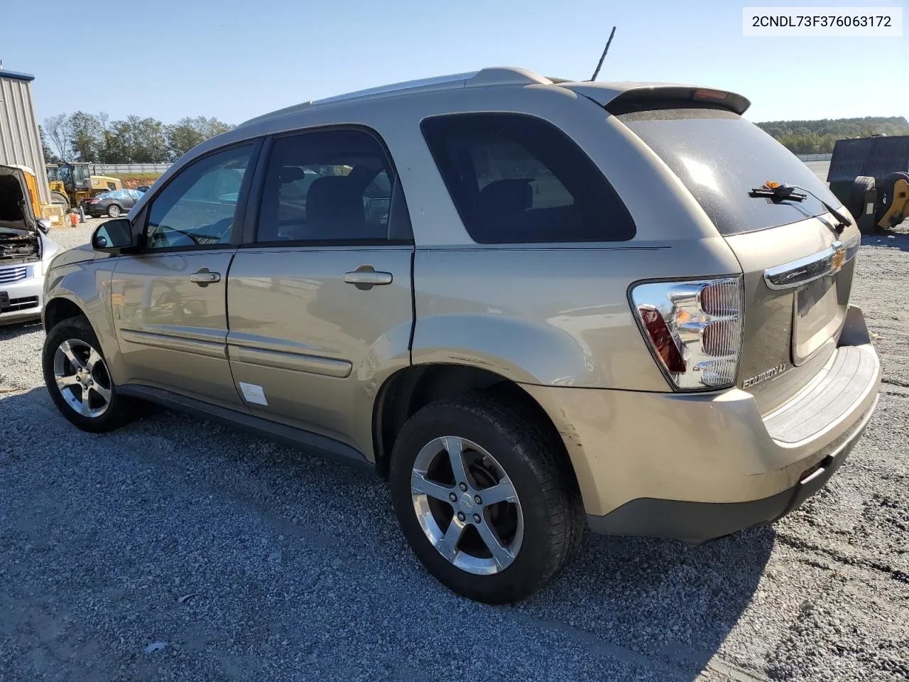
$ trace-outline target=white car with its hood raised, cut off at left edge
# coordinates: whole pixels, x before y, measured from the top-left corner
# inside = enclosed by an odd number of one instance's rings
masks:
[[[0,325],[41,317],[45,271],[59,250],[35,215],[25,166],[0,165]]]

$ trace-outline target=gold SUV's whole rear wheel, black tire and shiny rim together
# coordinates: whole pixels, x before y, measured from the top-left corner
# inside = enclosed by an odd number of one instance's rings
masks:
[[[561,442],[484,394],[438,401],[408,419],[389,481],[415,555],[464,597],[523,599],[580,544],[584,509]]]

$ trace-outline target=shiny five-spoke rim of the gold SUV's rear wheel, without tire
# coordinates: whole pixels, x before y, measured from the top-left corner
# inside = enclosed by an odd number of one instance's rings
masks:
[[[524,516],[514,485],[495,457],[458,436],[442,436],[417,454],[411,474],[416,517],[445,559],[491,575],[517,557]]]

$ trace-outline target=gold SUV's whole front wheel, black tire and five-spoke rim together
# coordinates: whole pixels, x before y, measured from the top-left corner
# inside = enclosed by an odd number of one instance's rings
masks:
[[[60,413],[85,431],[109,431],[124,423],[127,398],[117,395],[101,345],[85,317],[57,324],[45,339],[45,386]]]

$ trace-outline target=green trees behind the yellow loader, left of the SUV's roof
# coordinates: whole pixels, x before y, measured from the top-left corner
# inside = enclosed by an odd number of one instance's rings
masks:
[[[105,113],[77,111],[48,116],[39,127],[47,164],[160,164],[175,161],[195,145],[234,125],[205,116],[186,116],[173,125],[137,115],[111,121]]]

